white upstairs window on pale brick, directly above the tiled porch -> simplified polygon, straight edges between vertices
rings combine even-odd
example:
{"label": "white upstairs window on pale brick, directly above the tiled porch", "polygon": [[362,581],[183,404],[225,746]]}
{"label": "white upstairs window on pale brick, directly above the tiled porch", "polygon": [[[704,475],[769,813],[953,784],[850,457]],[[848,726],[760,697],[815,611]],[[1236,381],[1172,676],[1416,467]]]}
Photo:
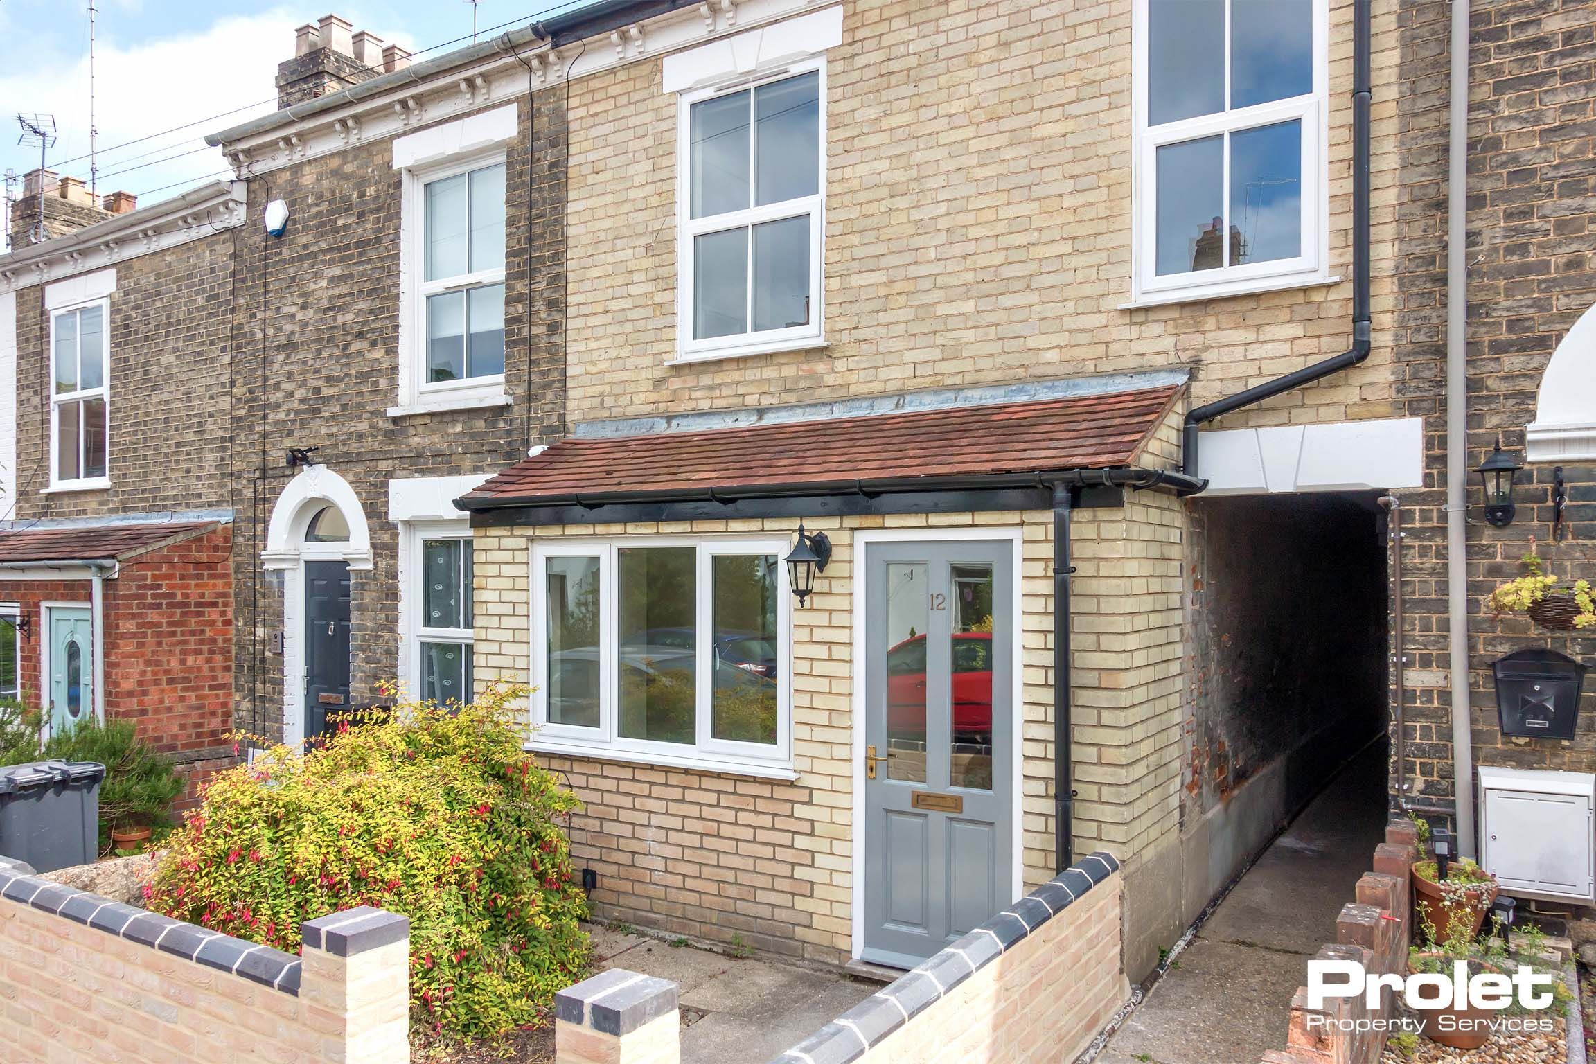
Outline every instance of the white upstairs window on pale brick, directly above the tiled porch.
{"label": "white upstairs window on pale brick, directly above the tiled porch", "polygon": [[820,346],[825,59],[678,107],[678,357]]}

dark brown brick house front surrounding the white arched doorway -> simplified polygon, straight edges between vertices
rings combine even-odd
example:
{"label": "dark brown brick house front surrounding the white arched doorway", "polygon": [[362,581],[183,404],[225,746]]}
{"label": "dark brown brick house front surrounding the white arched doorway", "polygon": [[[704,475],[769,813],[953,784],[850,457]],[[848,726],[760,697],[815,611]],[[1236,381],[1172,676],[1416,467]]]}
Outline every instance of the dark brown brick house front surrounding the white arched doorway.
{"label": "dark brown brick house front surrounding the white arched doorway", "polygon": [[263,238],[247,239],[238,257],[235,660],[239,723],[257,734],[278,734],[282,718],[282,657],[268,649],[282,627],[281,584],[262,573],[260,552],[271,507],[295,472],[284,466],[287,447],[319,447],[316,461],[350,482],[370,528],[373,568],[351,573],[353,700],[361,705],[378,700],[378,681],[399,675],[399,531],[388,520],[389,479],[487,479],[562,432],[562,97],[546,91],[531,108],[527,97],[514,105],[519,132],[508,145],[506,174],[509,407],[386,415],[399,402],[401,357],[401,172],[389,139],[251,182],[249,217],[275,198],[287,201],[292,215],[281,239],[265,247]]}

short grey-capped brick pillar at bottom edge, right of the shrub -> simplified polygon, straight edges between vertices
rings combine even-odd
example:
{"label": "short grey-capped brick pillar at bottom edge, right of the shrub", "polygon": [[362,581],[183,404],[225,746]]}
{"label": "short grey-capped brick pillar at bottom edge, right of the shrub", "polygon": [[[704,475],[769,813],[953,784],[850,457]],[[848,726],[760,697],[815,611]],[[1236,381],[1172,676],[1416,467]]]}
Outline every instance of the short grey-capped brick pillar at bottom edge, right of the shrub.
{"label": "short grey-capped brick pillar at bottom edge, right of the shrub", "polygon": [[677,984],[610,968],[554,995],[555,1064],[680,1064]]}

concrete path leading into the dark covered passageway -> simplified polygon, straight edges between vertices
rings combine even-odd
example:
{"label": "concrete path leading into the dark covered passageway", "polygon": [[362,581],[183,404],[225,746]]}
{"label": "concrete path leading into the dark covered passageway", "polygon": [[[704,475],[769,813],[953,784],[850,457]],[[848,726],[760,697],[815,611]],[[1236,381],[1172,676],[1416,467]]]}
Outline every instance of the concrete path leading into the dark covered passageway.
{"label": "concrete path leading into the dark covered passageway", "polygon": [[1358,756],[1248,869],[1098,1064],[1254,1064],[1285,1048],[1304,962],[1385,830],[1385,747]]}

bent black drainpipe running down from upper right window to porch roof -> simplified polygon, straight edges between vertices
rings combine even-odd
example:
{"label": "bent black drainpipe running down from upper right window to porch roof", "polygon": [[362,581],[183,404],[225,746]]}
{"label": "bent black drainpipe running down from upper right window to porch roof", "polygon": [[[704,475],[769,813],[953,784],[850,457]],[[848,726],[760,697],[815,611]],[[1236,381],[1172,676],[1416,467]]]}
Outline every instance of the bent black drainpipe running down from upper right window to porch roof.
{"label": "bent black drainpipe running down from upper right window to porch roof", "polygon": [[[1323,362],[1197,407],[1186,415],[1181,472],[1197,475],[1197,428],[1232,410],[1312,384],[1369,357],[1369,0],[1352,5],[1352,348]],[[1203,485],[1207,487],[1207,485]],[[1200,491],[1202,488],[1197,488]],[[1195,495],[1187,491],[1186,495]]]}

